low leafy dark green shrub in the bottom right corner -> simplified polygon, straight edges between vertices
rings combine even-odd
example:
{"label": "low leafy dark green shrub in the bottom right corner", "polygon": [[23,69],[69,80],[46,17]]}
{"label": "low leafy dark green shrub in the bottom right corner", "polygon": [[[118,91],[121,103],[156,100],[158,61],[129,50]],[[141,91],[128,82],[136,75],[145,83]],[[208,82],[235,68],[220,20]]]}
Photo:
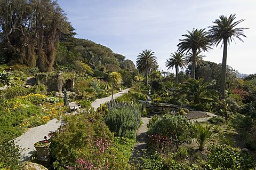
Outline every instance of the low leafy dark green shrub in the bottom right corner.
{"label": "low leafy dark green shrub in the bottom right corner", "polygon": [[250,169],[254,168],[254,161],[247,152],[228,145],[213,145],[207,155],[207,164],[218,169]]}

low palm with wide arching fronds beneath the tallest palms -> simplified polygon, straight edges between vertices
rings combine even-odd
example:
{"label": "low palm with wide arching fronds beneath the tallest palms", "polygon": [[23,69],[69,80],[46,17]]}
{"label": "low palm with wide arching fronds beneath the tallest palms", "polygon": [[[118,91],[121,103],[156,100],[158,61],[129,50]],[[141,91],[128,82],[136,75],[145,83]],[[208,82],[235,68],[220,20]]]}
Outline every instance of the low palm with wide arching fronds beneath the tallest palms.
{"label": "low palm with wide arching fronds beneath the tallest palms", "polygon": [[193,101],[195,104],[216,99],[218,94],[217,91],[209,88],[213,83],[203,82],[203,78],[200,78],[199,80],[189,78],[187,82],[182,84],[179,93],[186,94],[187,99]]}

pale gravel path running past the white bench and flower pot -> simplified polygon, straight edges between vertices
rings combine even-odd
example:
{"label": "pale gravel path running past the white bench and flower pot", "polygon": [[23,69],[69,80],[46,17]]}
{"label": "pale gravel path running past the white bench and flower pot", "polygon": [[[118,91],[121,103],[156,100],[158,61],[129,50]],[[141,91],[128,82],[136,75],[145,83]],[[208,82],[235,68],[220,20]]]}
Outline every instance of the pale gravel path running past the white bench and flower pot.
{"label": "pale gravel path running past the white bench and flower pot", "polygon": [[[113,95],[113,98],[117,98],[118,96],[123,95],[124,93],[127,93],[130,89],[127,88],[126,90],[116,93]],[[101,103],[105,103],[111,100],[111,96],[108,96],[107,98],[97,99],[94,102],[92,102],[92,107],[94,109],[97,109]],[[15,139],[15,142],[17,142],[17,145],[20,146],[21,150],[21,161],[28,160],[31,155],[33,155],[34,149],[34,143],[44,140],[44,136],[47,136],[47,134],[50,131],[56,131],[60,125],[61,121],[57,119],[50,120],[47,124],[33,127],[28,129],[27,132],[23,133],[21,136],[17,137]]]}

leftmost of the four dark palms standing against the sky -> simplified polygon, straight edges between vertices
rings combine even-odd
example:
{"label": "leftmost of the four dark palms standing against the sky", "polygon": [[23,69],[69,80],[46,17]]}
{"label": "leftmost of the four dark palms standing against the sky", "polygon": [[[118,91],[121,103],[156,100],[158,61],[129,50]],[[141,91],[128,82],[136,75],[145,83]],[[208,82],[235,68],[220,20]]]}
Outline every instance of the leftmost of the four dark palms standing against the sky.
{"label": "leftmost of the four dark palms standing against the sky", "polygon": [[152,50],[142,50],[137,56],[136,66],[143,72],[145,71],[145,84],[148,85],[148,74],[150,71],[154,70],[157,66],[155,52]]}

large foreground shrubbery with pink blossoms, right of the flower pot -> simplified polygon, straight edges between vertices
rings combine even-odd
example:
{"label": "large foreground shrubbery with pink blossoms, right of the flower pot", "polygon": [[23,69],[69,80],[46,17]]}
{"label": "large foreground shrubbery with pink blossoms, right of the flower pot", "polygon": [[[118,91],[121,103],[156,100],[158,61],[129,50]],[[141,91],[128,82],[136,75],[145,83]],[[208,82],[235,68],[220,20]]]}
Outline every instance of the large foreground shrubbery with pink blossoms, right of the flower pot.
{"label": "large foreground shrubbery with pink blossoms, right of the flower pot", "polygon": [[67,124],[51,139],[50,152],[55,169],[67,166],[75,169],[84,163],[95,169],[127,169],[128,152],[134,141],[114,139],[101,118],[93,109],[65,117]]}

